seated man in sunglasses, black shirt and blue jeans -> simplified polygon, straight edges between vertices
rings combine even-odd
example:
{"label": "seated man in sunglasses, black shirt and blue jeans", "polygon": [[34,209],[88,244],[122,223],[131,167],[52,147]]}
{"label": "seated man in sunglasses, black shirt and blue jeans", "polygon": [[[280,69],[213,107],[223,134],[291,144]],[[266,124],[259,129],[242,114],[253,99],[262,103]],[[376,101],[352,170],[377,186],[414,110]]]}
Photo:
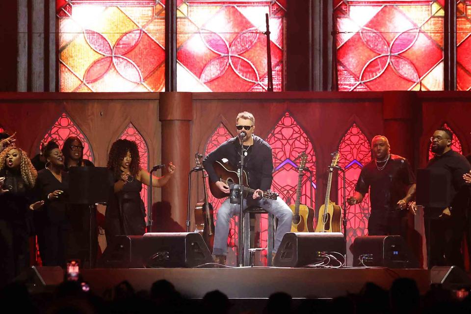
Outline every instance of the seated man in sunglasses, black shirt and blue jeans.
{"label": "seated man in sunglasses, black shirt and blue jeans", "polygon": [[[273,157],[270,145],[259,136],[254,135],[255,118],[250,112],[241,112],[236,118],[236,128],[245,131],[243,138],[244,167],[248,173],[248,184],[255,189],[253,195],[244,199],[244,208],[260,206],[278,218],[278,228],[275,235],[273,253],[278,250],[283,236],[291,230],[292,211],[280,198],[276,200],[261,198],[262,191],[270,189],[273,180]],[[216,174],[213,163],[222,158],[237,166],[240,162],[239,137],[231,138],[211,152],[204,160],[203,165],[208,172],[209,179],[224,193],[229,193],[229,186],[221,182]],[[227,255],[227,236],[231,217],[238,213],[239,205],[231,204],[227,199],[217,211],[216,228],[214,234],[213,255],[215,262],[224,264]]]}

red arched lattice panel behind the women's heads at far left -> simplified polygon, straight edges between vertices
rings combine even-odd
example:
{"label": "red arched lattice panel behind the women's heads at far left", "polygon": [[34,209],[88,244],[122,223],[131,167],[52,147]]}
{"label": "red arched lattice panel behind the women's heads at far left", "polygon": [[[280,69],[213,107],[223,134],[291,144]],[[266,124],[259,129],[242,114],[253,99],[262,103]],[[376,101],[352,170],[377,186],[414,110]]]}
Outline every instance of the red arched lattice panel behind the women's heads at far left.
{"label": "red arched lattice panel behind the women's heads at far left", "polygon": [[[43,136],[42,142],[47,143],[50,140],[54,139],[59,144],[59,147],[62,148],[64,141],[69,136],[77,136],[83,144],[83,158],[88,159],[91,162],[94,162],[93,152],[90,146],[90,142],[83,132],[78,128],[74,121],[69,117],[67,113],[62,113],[57,119],[57,121],[52,125],[51,130],[49,130],[46,135]],[[38,151],[39,151],[38,147]]]}

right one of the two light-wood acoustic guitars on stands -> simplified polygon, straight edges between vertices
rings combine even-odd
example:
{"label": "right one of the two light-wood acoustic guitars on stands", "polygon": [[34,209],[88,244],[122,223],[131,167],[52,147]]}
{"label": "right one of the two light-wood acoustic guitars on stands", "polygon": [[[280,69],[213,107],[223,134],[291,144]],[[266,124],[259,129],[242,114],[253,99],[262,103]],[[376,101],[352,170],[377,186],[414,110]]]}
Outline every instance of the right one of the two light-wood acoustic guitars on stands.
{"label": "right one of the two light-wood acoustic guitars on stands", "polygon": [[341,232],[340,220],[342,218],[342,210],[340,206],[330,201],[330,188],[332,186],[332,172],[339,162],[339,152],[332,154],[334,158],[329,167],[329,179],[327,180],[327,191],[325,193],[325,202],[319,209],[319,218],[315,232]]}

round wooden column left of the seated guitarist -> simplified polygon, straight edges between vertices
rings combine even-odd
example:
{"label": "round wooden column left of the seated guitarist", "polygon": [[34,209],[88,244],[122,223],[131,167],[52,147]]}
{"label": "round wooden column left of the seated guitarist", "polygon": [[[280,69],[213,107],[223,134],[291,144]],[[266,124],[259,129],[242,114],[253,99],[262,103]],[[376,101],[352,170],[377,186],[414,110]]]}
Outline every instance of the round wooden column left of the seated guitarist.
{"label": "round wooden column left of the seated guitarist", "polygon": [[190,123],[193,119],[192,94],[162,92],[159,120],[162,122],[162,163],[177,166],[174,177],[162,187],[162,201],[172,207],[172,218],[186,230],[188,172],[190,170]]}

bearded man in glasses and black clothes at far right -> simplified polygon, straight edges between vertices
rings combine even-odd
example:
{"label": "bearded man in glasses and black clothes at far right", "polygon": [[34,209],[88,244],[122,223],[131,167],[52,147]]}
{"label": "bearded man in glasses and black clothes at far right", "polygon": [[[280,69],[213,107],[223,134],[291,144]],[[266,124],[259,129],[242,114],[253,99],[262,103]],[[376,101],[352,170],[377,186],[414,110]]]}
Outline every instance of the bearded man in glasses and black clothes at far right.
{"label": "bearded man in glasses and black clothes at far right", "polygon": [[[463,155],[451,149],[453,134],[441,128],[430,137],[431,150],[435,156],[430,159],[426,169],[442,169],[450,174],[450,203],[445,209],[426,208],[425,234],[431,248],[429,267],[435,265],[458,265],[463,267],[461,242],[466,224],[466,208],[469,200],[469,185],[464,174],[469,173],[471,165]],[[428,227],[429,225],[429,227]]]}

